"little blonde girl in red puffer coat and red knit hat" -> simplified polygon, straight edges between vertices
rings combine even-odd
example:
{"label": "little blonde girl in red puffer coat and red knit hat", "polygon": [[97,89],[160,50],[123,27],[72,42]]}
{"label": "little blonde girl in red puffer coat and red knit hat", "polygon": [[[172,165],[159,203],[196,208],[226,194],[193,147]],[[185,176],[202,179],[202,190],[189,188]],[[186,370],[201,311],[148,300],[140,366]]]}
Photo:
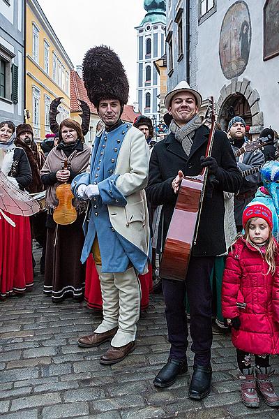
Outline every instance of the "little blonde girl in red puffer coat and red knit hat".
{"label": "little blonde girl in red puffer coat and red knit hat", "polygon": [[269,355],[279,353],[279,246],[272,227],[266,205],[248,205],[243,212],[245,232],[236,237],[223,276],[223,316],[232,325],[241,397],[248,407],[259,406],[258,395],[269,406],[279,406],[269,381]]}

